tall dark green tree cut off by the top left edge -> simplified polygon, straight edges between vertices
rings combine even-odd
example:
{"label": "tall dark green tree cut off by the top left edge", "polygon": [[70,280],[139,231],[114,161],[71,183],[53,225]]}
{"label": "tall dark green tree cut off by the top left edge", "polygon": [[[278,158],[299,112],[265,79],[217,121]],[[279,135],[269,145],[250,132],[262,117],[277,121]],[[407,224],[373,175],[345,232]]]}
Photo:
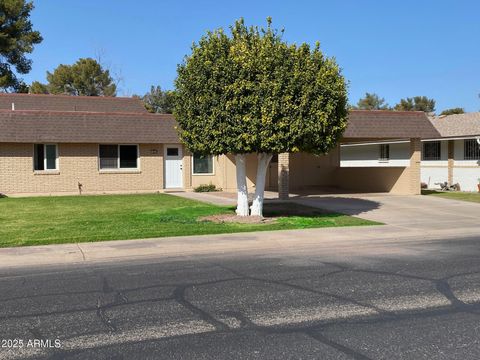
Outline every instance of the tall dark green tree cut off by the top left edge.
{"label": "tall dark green tree cut off by the top left edge", "polygon": [[31,2],[25,0],[0,1],[0,88],[3,91],[24,91],[25,84],[18,78],[32,69],[32,60],[26,54],[42,42],[42,36],[33,30],[30,22]]}

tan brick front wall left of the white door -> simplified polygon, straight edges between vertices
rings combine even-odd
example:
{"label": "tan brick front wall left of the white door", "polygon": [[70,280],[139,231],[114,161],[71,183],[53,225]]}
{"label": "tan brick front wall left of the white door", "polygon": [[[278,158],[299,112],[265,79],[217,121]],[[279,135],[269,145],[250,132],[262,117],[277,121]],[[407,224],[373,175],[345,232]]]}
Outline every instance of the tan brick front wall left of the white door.
{"label": "tan brick front wall left of the white door", "polygon": [[8,194],[153,192],[163,189],[161,144],[139,146],[139,170],[98,170],[97,144],[58,144],[59,169],[33,171],[33,144],[0,143],[0,192]]}

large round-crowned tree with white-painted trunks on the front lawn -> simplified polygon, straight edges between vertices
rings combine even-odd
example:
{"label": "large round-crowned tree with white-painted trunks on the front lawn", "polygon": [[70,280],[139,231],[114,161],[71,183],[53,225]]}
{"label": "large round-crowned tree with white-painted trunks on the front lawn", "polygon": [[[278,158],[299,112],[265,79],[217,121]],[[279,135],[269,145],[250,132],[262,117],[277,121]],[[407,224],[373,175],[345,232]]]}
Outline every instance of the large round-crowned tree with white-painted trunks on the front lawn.
{"label": "large round-crowned tree with white-painted trunks on the front lawn", "polygon": [[179,136],[198,155],[234,154],[237,214],[246,216],[246,154],[258,159],[251,215],[262,215],[265,177],[273,154],[324,154],[347,124],[347,86],[339,66],[317,43],[290,45],[268,26],[243,19],[208,32],[178,66]]}

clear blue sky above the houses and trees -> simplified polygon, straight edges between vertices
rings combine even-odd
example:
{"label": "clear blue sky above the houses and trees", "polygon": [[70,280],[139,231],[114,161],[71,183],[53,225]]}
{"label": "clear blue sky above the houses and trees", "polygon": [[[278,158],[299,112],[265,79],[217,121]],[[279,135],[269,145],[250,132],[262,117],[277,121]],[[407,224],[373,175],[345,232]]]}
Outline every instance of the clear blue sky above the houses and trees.
{"label": "clear blue sky above the houses and trees", "polygon": [[366,91],[393,105],[426,95],[437,113],[480,110],[480,1],[154,1],[37,0],[32,22],[44,41],[25,80],[45,80],[58,64],[101,54],[123,82],[119,95],[173,87],[176,65],[206,30],[244,17],[272,16],[289,42],[319,40],[350,82],[350,102]]}

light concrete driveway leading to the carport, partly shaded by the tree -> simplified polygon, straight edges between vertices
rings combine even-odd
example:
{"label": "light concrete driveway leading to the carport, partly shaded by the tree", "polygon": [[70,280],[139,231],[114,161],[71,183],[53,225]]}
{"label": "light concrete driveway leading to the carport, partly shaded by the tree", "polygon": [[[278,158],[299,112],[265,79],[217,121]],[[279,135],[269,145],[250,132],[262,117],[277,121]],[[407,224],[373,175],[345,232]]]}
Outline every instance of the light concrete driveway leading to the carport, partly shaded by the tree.
{"label": "light concrete driveway leading to the carport, partly shaded by the tree", "polygon": [[465,229],[480,226],[480,204],[433,196],[345,194],[299,196],[293,200],[409,229]]}

